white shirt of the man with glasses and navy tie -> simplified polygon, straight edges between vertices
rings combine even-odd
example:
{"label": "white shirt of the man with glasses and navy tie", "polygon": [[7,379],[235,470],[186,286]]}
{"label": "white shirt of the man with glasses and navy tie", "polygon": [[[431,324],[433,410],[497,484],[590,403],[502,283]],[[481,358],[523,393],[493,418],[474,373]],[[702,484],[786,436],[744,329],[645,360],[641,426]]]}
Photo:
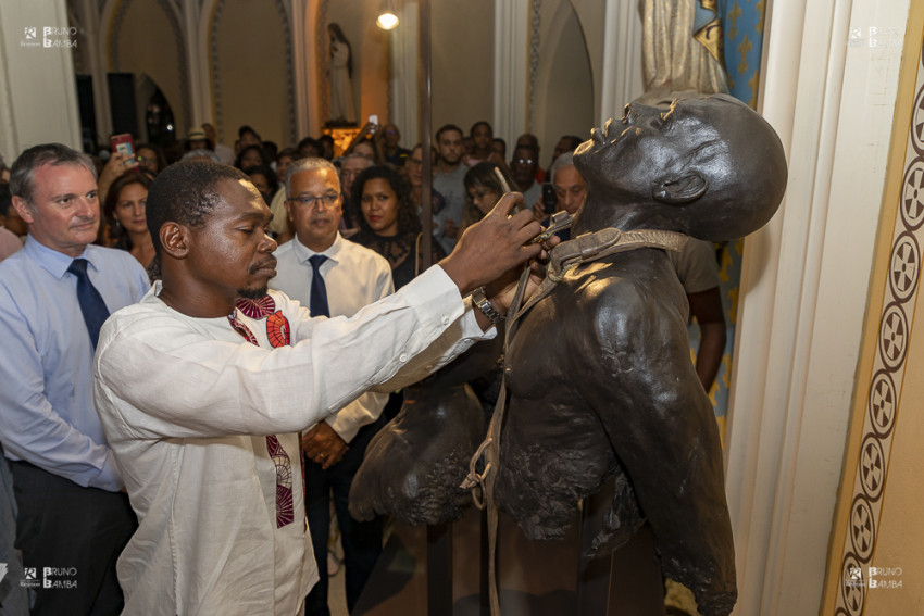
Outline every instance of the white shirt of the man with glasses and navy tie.
{"label": "white shirt of the man with glasses and navy tie", "polygon": [[[314,252],[298,240],[286,242],[276,250],[276,277],[270,288],[283,291],[301,305],[311,304],[311,281],[314,269],[309,259],[323,254],[321,276],[327,289],[327,307],[330,316],[353,316],[360,309],[395,292],[391,266],[388,261],[363,246],[344,239],[340,234],[323,252]],[[388,395],[369,391],[325,422],[344,442],[352,441],[360,428],[372,424],[388,402]]]}

